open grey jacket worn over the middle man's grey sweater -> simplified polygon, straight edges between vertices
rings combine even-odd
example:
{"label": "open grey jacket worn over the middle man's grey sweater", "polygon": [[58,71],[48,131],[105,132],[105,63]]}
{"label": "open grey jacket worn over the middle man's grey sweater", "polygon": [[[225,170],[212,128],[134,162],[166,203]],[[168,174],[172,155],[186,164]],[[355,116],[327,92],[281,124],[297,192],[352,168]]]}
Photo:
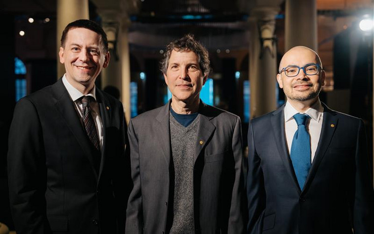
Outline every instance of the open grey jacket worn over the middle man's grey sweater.
{"label": "open grey jacket worn over the middle man's grey sweater", "polygon": [[[134,187],[127,209],[127,234],[170,231],[174,166],[169,103],[129,123]],[[196,233],[241,234],[244,184],[240,118],[202,101],[199,113],[193,181]]]}

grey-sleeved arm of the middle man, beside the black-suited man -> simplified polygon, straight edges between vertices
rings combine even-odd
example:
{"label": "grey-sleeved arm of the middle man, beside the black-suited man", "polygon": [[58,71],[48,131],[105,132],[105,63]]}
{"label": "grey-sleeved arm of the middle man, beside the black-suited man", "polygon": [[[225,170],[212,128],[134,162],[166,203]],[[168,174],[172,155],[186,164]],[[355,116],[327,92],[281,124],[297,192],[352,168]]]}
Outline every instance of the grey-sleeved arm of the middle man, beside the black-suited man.
{"label": "grey-sleeved arm of the middle man, beside the black-suited man", "polygon": [[128,135],[130,143],[131,177],[133,188],[129,197],[126,211],[126,234],[142,234],[143,207],[142,191],[140,186],[139,145],[134,127],[132,125],[132,120],[130,120],[129,123]]}

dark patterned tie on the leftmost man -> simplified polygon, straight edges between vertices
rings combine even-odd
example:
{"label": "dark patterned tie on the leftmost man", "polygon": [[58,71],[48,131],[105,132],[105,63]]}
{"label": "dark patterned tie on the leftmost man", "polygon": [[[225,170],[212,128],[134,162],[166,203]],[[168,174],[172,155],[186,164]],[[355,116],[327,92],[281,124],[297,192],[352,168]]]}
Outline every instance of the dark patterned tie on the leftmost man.
{"label": "dark patterned tie on the leftmost man", "polygon": [[99,137],[97,136],[95,122],[93,121],[93,117],[91,115],[89,96],[84,96],[82,98],[82,107],[83,107],[83,123],[86,129],[86,133],[88,137],[90,138],[91,142],[93,143],[93,146],[95,147],[95,149],[99,150],[99,147],[100,147]]}

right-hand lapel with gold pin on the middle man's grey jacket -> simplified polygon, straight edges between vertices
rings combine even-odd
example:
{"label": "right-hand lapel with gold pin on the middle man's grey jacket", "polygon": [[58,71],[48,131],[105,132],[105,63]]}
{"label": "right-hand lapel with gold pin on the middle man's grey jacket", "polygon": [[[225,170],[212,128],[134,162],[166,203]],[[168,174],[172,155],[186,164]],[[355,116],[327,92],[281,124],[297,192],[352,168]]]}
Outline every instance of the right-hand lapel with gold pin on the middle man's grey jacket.
{"label": "right-hand lapel with gold pin on the middle man's grey jacket", "polygon": [[209,113],[207,112],[208,108],[206,104],[202,100],[200,100],[200,119],[196,135],[197,137],[195,143],[194,163],[196,162],[196,159],[198,158],[201,151],[204,149],[204,146],[207,144],[214,130],[216,129],[216,127],[210,122],[210,119],[212,119],[213,117],[210,117]]}

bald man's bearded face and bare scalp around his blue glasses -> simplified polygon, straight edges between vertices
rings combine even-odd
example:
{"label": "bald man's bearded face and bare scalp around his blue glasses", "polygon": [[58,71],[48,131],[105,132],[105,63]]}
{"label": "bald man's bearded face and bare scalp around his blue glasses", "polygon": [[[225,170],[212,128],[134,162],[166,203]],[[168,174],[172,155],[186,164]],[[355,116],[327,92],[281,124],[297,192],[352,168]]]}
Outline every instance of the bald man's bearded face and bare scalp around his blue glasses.
{"label": "bald man's bearded face and bare scalp around his blue glasses", "polygon": [[[289,50],[281,59],[280,70],[284,67],[295,65],[304,67],[307,64],[318,63],[317,55],[309,48],[298,46]],[[324,85],[325,72],[319,71],[316,75],[306,75],[300,69],[296,77],[287,77],[285,72],[277,75],[279,87],[291,102],[314,102],[319,91]]]}

